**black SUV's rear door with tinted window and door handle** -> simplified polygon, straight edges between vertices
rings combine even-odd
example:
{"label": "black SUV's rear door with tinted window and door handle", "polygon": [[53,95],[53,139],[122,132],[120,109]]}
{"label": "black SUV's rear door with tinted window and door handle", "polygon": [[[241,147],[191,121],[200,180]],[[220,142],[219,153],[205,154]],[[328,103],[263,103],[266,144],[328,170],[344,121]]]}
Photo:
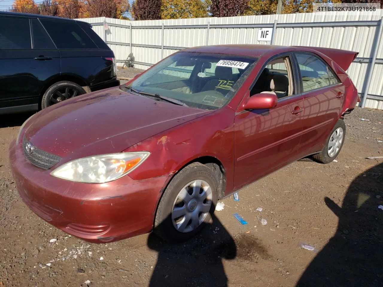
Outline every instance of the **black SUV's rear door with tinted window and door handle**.
{"label": "black SUV's rear door with tinted window and door handle", "polygon": [[35,21],[0,16],[0,113],[37,110],[44,82],[53,70],[60,72],[60,54],[54,46],[34,49],[35,44],[48,47],[50,41],[52,45],[49,37],[39,34],[41,29]]}

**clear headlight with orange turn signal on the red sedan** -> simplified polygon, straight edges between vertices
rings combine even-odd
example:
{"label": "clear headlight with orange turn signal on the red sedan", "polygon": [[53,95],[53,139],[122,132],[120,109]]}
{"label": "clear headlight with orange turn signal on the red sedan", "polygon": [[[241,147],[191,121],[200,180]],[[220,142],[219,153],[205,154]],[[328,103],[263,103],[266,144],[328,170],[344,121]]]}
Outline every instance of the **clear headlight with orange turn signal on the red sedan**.
{"label": "clear headlight with orange turn signal on the red sedan", "polygon": [[82,183],[107,183],[133,171],[149,155],[150,152],[121,152],[84,157],[64,163],[51,174]]}

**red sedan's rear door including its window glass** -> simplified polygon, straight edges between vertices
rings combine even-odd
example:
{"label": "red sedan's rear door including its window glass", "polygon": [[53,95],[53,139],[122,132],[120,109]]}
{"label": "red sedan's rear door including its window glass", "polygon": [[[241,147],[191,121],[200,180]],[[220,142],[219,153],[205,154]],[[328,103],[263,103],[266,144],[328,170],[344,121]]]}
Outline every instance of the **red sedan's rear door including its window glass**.
{"label": "red sedan's rear door including its window glass", "polygon": [[301,142],[302,156],[321,150],[339,119],[344,103],[344,85],[318,55],[296,52],[304,101]]}

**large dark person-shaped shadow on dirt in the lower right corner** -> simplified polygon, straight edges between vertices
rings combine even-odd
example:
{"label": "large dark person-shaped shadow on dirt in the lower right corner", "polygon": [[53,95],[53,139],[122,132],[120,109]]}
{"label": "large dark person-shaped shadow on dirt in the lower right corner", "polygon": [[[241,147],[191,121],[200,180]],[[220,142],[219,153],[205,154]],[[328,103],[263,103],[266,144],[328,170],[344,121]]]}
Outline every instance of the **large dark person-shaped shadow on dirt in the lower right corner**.
{"label": "large dark person-shaped shadow on dirt in the lower right corner", "polygon": [[383,286],[383,163],[352,181],[342,207],[325,202],[338,229],[296,286]]}

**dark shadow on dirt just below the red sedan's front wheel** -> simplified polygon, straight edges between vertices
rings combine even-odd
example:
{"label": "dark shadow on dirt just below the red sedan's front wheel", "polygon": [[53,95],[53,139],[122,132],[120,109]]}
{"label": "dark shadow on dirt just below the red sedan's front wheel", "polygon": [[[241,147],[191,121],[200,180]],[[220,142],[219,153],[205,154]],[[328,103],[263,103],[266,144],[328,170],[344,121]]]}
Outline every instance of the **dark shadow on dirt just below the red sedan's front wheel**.
{"label": "dark shadow on dirt just below the red sedan's front wheel", "polygon": [[158,252],[149,287],[228,285],[222,259],[234,259],[237,248],[217,217],[212,218],[201,235],[184,243],[169,244],[149,235],[148,247]]}

